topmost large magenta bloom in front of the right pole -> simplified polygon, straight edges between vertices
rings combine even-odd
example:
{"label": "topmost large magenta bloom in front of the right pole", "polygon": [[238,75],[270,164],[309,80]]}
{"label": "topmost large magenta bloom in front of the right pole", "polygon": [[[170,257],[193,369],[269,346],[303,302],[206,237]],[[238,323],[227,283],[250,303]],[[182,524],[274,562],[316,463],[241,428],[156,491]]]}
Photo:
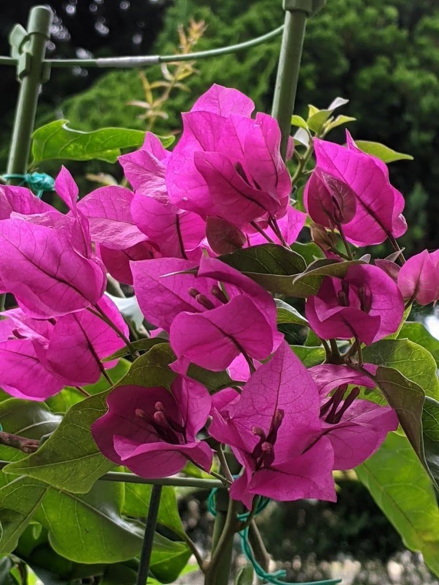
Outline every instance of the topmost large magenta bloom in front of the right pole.
{"label": "topmost large magenta bloom in front of the right pole", "polygon": [[214,85],[183,114],[183,135],[166,170],[170,200],[179,208],[238,227],[286,213],[291,181],[279,125],[262,113],[249,118],[251,107],[245,95]]}

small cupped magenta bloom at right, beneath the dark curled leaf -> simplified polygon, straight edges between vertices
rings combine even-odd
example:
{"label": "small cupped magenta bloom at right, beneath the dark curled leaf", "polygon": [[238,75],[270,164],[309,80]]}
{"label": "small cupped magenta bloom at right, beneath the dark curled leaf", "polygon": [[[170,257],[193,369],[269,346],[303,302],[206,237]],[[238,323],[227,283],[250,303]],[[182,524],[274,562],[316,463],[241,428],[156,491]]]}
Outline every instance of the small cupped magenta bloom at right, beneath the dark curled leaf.
{"label": "small cupped magenta bloom at right, beneath the dark curled leaf", "polygon": [[376,266],[350,266],[344,278],[325,277],[308,297],[306,318],[323,339],[358,339],[369,345],[395,333],[404,301],[395,282]]}

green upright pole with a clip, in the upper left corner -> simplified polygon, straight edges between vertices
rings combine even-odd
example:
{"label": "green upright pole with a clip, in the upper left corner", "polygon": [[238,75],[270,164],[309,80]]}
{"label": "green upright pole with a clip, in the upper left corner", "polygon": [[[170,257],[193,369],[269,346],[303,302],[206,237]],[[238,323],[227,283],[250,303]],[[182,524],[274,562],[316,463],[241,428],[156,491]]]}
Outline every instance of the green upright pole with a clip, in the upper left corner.
{"label": "green upright pole with a clip, in the upper left corner", "polygon": [[9,151],[8,174],[24,174],[28,168],[30,140],[52,16],[52,11],[46,6],[34,6],[29,13],[27,36],[19,48],[21,55],[17,73],[21,84]]}

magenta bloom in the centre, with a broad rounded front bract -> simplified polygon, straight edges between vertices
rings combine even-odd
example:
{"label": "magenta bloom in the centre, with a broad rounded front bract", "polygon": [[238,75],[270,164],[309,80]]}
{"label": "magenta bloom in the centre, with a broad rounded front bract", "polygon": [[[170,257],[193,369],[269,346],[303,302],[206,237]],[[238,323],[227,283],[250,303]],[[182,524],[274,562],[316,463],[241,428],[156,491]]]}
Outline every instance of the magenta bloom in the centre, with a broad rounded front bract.
{"label": "magenta bloom in the centre, with a broad rounded front bract", "polygon": [[170,258],[132,262],[131,270],[145,318],[169,331],[179,358],[222,370],[242,351],[268,357],[282,339],[269,293],[217,259],[202,257],[198,270]]}

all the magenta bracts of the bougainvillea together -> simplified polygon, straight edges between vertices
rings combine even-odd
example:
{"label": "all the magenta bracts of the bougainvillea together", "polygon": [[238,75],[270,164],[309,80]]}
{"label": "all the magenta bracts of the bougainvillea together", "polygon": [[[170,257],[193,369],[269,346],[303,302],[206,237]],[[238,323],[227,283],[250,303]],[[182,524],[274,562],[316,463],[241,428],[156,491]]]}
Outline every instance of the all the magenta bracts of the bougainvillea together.
{"label": "all the magenta bracts of the bougainvillea together", "polygon": [[[358,386],[375,386],[371,364],[307,370],[277,331],[271,295],[218,259],[215,232],[231,230],[242,247],[266,243],[264,233],[290,245],[306,219],[290,205],[279,126],[263,113],[252,119],[253,109],[241,92],[212,86],[183,114],[172,152],[148,133],[119,158],[133,190],[102,187],[77,202],[62,168],[56,191],[67,215],[24,188],[0,189],[0,289],[19,305],[0,321],[0,386],[44,400],[113,365],[101,360],[125,343],[111,324],[128,331],[103,296],[108,271],[133,284],[145,318],[169,334],[177,376],[171,391],[109,394],[108,413],[92,427],[104,455],[144,477],[177,473],[187,460],[209,471],[212,449],[199,438],[207,429],[242,464],[231,495],[248,507],[254,494],[335,500],[332,470],[365,460],[397,418],[358,398]],[[403,197],[385,164],[350,135],[347,147],[315,139],[314,148],[304,202],[315,223],[359,246],[405,232]],[[308,322],[323,339],[369,345],[397,330],[404,299],[439,298],[438,263],[438,252],[424,251],[400,269],[390,260],[354,264],[308,297]],[[241,392],[211,396],[187,376],[190,363],[228,369]]]}

